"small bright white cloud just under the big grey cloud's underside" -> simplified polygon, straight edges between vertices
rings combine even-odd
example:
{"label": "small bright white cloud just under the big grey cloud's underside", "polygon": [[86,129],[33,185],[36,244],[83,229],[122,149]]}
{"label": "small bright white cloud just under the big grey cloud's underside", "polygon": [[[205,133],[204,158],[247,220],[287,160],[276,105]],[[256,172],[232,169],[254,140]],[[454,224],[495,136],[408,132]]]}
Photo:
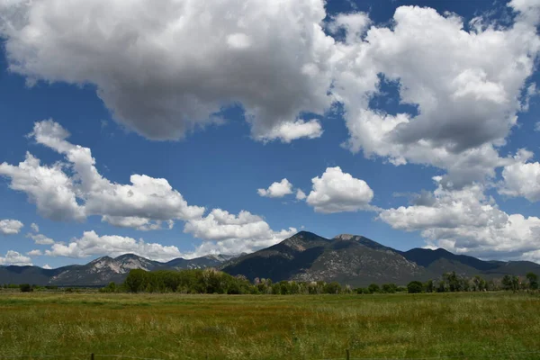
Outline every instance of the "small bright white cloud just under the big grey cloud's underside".
{"label": "small bright white cloud just under the big grey cloud's underside", "polygon": [[287,121],[275,126],[269,132],[258,136],[257,139],[263,141],[281,139],[284,143],[290,143],[295,139],[317,139],[322,136],[323,132],[320,122],[315,119],[310,121]]}

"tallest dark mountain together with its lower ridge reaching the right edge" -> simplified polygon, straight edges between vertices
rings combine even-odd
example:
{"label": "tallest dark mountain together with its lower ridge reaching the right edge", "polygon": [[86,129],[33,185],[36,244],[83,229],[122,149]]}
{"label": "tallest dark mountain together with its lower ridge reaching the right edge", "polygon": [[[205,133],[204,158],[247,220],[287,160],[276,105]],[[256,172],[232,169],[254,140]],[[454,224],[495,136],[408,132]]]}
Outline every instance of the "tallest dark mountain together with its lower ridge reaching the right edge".
{"label": "tallest dark mountain together with its lower ridge reaching the right edge", "polygon": [[437,279],[455,271],[459,275],[540,275],[540,265],[525,261],[483,261],[476,257],[455,255],[445,249],[413,248],[399,251],[370,238],[338,235],[321,238],[302,231],[274,247],[237,257],[222,266],[231,275],[248,279],[270,278],[273,281],[337,281],[351,286]]}

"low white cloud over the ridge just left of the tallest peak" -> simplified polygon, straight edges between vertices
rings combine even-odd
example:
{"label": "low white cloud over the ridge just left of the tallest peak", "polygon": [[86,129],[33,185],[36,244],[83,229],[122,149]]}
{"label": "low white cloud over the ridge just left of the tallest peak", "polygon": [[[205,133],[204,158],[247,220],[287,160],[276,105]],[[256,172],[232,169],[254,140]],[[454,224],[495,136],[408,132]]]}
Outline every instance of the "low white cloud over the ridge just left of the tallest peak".
{"label": "low white cloud over the ridge just left of the tallest peak", "polygon": [[234,215],[214,209],[202,219],[187,221],[184,232],[203,240],[202,245],[191,254],[191,257],[195,257],[208,253],[253,252],[291,237],[297,229],[274,231],[260,216],[248,211],[240,211],[238,215]]}

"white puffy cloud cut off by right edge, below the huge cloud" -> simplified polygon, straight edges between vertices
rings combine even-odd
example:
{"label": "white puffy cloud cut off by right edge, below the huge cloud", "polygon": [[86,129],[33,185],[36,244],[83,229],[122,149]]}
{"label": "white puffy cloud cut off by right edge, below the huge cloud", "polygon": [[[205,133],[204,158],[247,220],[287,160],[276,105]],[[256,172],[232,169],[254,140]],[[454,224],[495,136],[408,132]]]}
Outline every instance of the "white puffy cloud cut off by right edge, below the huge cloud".
{"label": "white puffy cloud cut off by right edge, below the huge cloud", "polygon": [[533,157],[530,151],[521,149],[515,163],[504,166],[499,193],[507,196],[523,196],[529,202],[540,201],[540,163],[527,162]]}

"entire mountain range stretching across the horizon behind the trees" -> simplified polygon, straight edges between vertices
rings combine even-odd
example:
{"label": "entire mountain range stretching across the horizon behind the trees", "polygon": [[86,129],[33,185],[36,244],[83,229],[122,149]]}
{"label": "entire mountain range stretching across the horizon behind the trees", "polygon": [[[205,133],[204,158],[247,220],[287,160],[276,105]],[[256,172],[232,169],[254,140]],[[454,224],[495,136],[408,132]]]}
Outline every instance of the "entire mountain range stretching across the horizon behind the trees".
{"label": "entire mountain range stretching across the horizon behind the trees", "polygon": [[336,281],[351,286],[367,284],[407,284],[412,280],[437,279],[446,272],[459,275],[540,275],[540,265],[528,261],[484,261],[455,255],[445,249],[413,248],[399,251],[369,238],[338,235],[322,238],[301,231],[272,247],[239,256],[176,258],[166,263],[133,254],[100,257],[86,265],[43,269],[38,266],[0,266],[0,284],[56,284],[64,286],[121,283],[131,269],[219,268],[230,275],[296,281]]}

